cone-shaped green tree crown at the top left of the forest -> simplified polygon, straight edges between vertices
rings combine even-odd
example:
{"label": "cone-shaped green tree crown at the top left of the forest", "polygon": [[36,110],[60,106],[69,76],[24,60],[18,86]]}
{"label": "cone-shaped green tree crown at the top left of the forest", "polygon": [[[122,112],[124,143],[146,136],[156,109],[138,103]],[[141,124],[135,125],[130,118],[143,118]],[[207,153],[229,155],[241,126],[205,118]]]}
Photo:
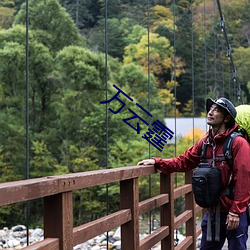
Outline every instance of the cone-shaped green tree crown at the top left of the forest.
{"label": "cone-shaped green tree crown at the top left of the forest", "polygon": [[[58,0],[29,1],[29,20],[36,39],[53,52],[69,45],[84,45],[79,30]],[[15,17],[16,24],[26,24],[25,3]]]}

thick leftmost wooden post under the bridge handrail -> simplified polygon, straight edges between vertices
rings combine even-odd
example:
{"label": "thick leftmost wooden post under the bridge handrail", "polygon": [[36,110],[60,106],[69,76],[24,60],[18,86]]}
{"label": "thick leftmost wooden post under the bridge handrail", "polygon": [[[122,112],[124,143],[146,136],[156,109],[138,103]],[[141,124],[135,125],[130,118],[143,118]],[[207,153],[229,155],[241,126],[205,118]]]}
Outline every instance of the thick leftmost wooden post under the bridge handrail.
{"label": "thick leftmost wooden post under the bridge handrail", "polygon": [[60,250],[73,249],[72,192],[44,198],[44,238],[59,238]]}

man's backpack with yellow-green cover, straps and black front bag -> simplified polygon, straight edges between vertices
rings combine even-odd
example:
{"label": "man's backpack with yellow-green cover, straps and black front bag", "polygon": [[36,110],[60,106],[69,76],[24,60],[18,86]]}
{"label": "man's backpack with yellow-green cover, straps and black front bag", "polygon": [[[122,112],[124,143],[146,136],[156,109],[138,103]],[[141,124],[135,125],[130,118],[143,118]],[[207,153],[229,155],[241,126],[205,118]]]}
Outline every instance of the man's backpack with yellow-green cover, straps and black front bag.
{"label": "man's backpack with yellow-green cover, straps and black front bag", "polygon": [[[250,143],[250,105],[240,105],[236,107],[237,116],[236,123],[239,125],[239,132],[231,133],[223,145],[223,158],[214,160],[226,160],[231,171],[233,169],[232,143],[237,136],[244,137]],[[226,190],[221,189],[221,173],[220,169],[215,168],[212,164],[205,163],[207,145],[203,143],[201,162],[194,171],[192,177],[193,193],[196,203],[204,208],[208,208],[208,223],[207,223],[207,241],[212,241],[212,226],[211,226],[211,207],[215,207],[215,241],[220,241],[220,205],[219,199],[222,194],[228,195],[230,199],[234,199],[233,182],[230,180]],[[250,224],[250,203],[248,205],[248,222]]]}

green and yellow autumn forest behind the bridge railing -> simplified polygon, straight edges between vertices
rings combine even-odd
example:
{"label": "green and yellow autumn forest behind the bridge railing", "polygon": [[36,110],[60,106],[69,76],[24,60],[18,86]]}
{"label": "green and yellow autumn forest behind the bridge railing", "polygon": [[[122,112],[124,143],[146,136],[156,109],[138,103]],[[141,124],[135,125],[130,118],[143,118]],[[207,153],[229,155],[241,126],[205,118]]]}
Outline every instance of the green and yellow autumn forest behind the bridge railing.
{"label": "green and yellow autumn forest behind the bridge railing", "polygon": [[[202,132],[159,151],[142,137],[145,110],[163,122],[204,117],[207,97],[249,103],[250,2],[220,2],[230,48],[215,0],[2,0],[1,183],[174,157]],[[122,110],[122,102],[105,103],[118,89]],[[123,122],[131,111],[140,121]],[[140,180],[140,199],[148,182]],[[157,179],[150,182],[157,192]],[[118,189],[108,187],[110,211],[119,207]],[[105,186],[76,191],[75,224],[105,213],[106,194]],[[41,202],[30,204],[34,226],[42,226]],[[24,210],[0,207],[0,227],[24,221]]]}

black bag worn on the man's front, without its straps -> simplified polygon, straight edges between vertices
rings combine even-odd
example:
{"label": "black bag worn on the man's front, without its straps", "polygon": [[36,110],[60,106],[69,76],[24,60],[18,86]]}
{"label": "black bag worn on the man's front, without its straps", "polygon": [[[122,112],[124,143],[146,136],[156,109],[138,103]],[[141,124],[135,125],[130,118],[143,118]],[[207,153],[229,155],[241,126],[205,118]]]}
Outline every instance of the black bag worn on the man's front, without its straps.
{"label": "black bag worn on the man's front, without its straps", "polygon": [[195,202],[204,208],[214,207],[221,195],[221,170],[210,163],[200,163],[192,176]]}

